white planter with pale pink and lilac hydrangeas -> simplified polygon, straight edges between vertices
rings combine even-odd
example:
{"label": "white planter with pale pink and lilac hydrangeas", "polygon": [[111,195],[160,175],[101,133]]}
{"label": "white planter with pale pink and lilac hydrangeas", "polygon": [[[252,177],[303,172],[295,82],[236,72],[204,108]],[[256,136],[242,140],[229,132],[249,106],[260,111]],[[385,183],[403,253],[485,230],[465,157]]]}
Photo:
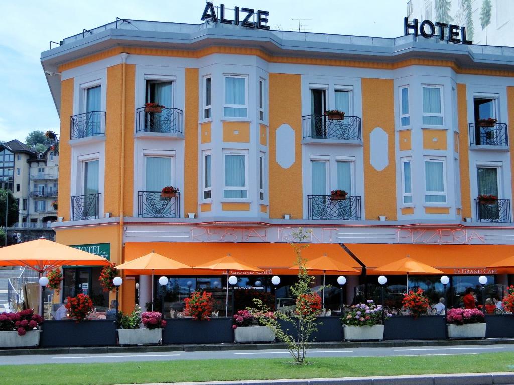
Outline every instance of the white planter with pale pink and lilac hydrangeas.
{"label": "white planter with pale pink and lilac hydrangeas", "polygon": [[347,341],[383,340],[385,317],[381,305],[376,305],[372,299],[351,307],[343,318],[343,335]]}

